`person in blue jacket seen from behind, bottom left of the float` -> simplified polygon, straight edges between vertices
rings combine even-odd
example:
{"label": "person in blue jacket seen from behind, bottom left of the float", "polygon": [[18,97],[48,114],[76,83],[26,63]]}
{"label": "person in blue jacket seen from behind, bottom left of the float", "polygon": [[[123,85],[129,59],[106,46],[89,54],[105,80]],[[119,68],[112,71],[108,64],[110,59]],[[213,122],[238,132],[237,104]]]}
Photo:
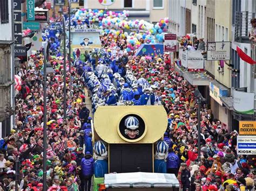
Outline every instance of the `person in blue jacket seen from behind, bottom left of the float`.
{"label": "person in blue jacket seen from behind, bottom left of the float", "polygon": [[94,174],[94,159],[91,153],[88,151],[85,153],[84,158],[81,161],[81,188],[84,191],[91,190],[91,179]]}

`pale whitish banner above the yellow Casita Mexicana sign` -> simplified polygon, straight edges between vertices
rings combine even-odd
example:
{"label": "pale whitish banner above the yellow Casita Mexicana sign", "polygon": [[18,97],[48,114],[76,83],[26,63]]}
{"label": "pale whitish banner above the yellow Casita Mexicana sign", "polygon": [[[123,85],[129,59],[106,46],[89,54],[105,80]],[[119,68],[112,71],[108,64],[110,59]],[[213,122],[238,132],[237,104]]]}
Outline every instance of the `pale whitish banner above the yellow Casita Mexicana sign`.
{"label": "pale whitish banner above the yellow Casita Mexicana sign", "polygon": [[241,114],[254,114],[254,93],[234,89],[234,110]]}

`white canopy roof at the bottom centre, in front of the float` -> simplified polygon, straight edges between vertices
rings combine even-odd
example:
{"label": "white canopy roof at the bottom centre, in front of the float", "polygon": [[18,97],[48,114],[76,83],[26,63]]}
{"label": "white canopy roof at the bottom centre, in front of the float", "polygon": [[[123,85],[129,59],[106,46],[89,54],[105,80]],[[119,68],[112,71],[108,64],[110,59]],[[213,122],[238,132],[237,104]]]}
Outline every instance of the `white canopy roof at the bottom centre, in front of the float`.
{"label": "white canopy roof at the bottom centre, in front of the float", "polygon": [[105,174],[106,188],[179,188],[174,174],[164,173],[117,173]]}

